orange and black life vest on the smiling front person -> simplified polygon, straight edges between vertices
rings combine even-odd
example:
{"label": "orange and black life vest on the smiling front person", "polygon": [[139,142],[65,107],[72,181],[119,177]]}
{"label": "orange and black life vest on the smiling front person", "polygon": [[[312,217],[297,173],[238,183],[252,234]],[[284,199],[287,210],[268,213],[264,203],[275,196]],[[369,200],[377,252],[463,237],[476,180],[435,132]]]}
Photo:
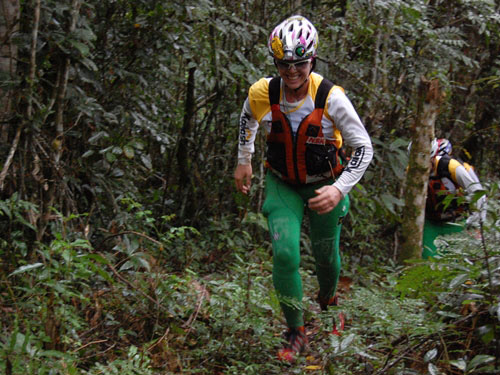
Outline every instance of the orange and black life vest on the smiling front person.
{"label": "orange and black life vest on the smiling front person", "polygon": [[334,141],[327,140],[321,119],[326,99],[333,83],[323,79],[318,87],[314,110],[299,124],[294,136],[286,115],[280,109],[280,77],[269,82],[272,125],[267,136],[266,167],[284,181],[292,184],[308,183],[308,176],[322,177],[314,181],[339,176],[343,166]]}

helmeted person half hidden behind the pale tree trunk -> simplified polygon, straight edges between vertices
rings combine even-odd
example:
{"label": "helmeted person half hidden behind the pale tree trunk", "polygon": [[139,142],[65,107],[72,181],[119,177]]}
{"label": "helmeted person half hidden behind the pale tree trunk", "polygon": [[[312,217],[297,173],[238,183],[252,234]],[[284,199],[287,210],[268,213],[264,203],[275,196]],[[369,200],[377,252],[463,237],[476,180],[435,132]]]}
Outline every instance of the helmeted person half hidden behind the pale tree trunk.
{"label": "helmeted person half hidden behind the pale tree trunk", "polygon": [[425,222],[423,233],[422,258],[427,259],[438,254],[434,240],[439,235],[457,233],[466,227],[478,226],[486,219],[486,196],[476,202],[478,211],[467,220],[462,220],[470,207],[466,201],[453,199],[445,205],[449,194],[472,196],[478,190],[484,190],[474,168],[451,156],[452,145],[445,138],[433,139],[431,143],[431,172],[427,187]]}

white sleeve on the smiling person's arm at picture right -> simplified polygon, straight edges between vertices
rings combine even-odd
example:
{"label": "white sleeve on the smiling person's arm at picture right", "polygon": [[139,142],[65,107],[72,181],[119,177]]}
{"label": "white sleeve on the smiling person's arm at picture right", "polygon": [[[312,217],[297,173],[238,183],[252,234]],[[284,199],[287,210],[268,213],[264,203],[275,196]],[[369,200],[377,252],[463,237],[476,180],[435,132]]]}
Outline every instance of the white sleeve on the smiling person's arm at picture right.
{"label": "white sleeve on the smiling person's arm at picture right", "polygon": [[327,110],[343,141],[353,149],[349,163],[333,184],[345,196],[368,168],[373,157],[372,142],[351,101],[340,88],[330,93]]}

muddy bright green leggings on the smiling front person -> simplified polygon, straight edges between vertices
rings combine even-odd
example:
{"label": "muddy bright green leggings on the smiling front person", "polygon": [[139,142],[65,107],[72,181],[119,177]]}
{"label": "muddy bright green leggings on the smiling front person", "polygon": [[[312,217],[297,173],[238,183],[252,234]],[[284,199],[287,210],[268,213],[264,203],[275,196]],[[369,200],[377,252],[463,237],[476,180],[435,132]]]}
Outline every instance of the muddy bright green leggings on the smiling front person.
{"label": "muddy bright green leggings on the smiling front person", "polygon": [[300,265],[300,229],[304,212],[310,224],[310,238],[319,282],[319,295],[335,294],[340,276],[339,240],[342,218],[349,210],[349,197],[344,197],[331,212],[318,215],[308,209],[307,201],[316,196],[315,189],[325,182],[292,186],[271,172],[266,175],[266,199],[263,213],[268,219],[273,246],[273,283],[281,308],[290,328],[304,325],[302,314],[302,281]]}

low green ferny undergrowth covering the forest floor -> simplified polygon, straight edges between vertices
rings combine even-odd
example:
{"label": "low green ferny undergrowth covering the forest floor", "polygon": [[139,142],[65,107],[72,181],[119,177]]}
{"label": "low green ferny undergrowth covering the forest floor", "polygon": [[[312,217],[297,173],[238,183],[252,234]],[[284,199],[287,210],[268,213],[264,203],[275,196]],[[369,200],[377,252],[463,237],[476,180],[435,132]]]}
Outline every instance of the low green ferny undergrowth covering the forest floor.
{"label": "low green ferny undergrowth covering the forest floor", "polygon": [[[341,306],[326,313],[315,302],[304,237],[310,347],[292,365],[276,357],[284,322],[260,215],[247,214],[239,226],[232,217],[214,219],[195,230],[169,226],[168,216],[157,223],[141,204],[124,199],[128,226],[92,241],[66,230],[73,218],[55,213],[50,244],[30,248],[22,238],[2,244],[0,372],[498,373],[495,189],[488,222],[441,238],[442,258],[401,266],[382,252],[360,257],[344,248]],[[36,209],[15,197],[0,208],[11,219],[11,238]],[[350,226],[345,243],[354,243]],[[346,316],[340,337],[329,334],[338,310]]]}

